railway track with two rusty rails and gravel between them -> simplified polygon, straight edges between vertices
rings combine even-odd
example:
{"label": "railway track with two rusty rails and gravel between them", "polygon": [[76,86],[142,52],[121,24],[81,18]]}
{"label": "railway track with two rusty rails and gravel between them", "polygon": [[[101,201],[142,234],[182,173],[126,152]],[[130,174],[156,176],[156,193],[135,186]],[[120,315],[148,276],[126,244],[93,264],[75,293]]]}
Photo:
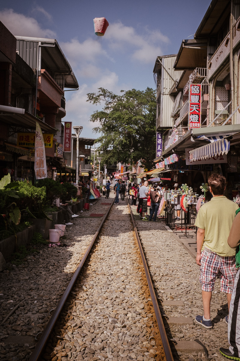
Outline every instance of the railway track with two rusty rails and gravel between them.
{"label": "railway track with two rusty rails and gravel between them", "polygon": [[131,207],[113,202],[29,361],[173,361]]}

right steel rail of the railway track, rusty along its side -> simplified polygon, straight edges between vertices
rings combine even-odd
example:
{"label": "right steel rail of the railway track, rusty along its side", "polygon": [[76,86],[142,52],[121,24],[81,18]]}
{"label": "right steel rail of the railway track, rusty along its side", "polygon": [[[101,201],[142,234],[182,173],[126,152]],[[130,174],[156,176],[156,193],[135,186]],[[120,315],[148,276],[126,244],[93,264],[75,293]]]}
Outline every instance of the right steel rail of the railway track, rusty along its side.
{"label": "right steel rail of the railway track, rusty along its side", "polygon": [[163,319],[159,310],[159,306],[158,306],[158,301],[157,301],[157,297],[155,295],[155,291],[153,288],[153,283],[151,281],[151,277],[150,277],[150,273],[149,273],[149,269],[148,269],[148,265],[145,259],[145,255],[142,249],[142,245],[141,245],[141,241],[139,238],[139,234],[137,231],[137,227],[136,227],[136,223],[134,221],[133,218],[133,214],[132,214],[132,209],[130,207],[128,198],[127,198],[127,203],[128,203],[128,207],[130,210],[130,214],[131,214],[131,219],[132,219],[132,224],[133,224],[133,228],[134,228],[134,234],[135,234],[135,239],[137,241],[137,245],[139,247],[139,251],[140,251],[140,255],[141,255],[141,259],[142,259],[142,264],[144,267],[144,271],[145,271],[145,275],[146,275],[146,279],[147,279],[147,283],[148,283],[148,288],[149,288],[149,292],[150,292],[150,297],[153,303],[153,309],[154,309],[154,313],[156,316],[156,321],[157,321],[157,325],[158,325],[158,330],[162,339],[162,344],[163,344],[163,350],[166,356],[166,361],[174,361],[173,359],[173,355],[172,355],[172,351],[168,342],[168,337],[167,337],[167,333],[163,324]]}

